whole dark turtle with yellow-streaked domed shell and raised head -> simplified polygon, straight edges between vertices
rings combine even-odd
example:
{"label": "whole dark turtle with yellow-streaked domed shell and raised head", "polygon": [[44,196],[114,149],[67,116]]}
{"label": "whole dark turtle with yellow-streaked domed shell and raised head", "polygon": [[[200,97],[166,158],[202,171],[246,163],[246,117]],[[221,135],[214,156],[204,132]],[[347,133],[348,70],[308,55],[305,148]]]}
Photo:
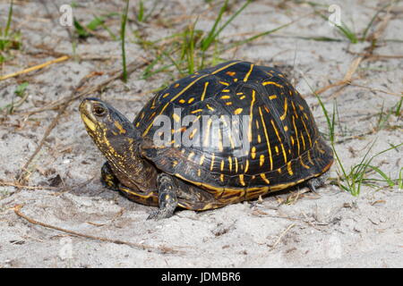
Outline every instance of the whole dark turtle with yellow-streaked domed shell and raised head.
{"label": "whole dark turtle with yellow-streaked domed shell and raised head", "polygon": [[101,181],[126,198],[202,211],[296,185],[321,187],[333,163],[304,98],[279,70],[229,61],[152,97],[134,121],[96,98],[81,119],[107,158]]}

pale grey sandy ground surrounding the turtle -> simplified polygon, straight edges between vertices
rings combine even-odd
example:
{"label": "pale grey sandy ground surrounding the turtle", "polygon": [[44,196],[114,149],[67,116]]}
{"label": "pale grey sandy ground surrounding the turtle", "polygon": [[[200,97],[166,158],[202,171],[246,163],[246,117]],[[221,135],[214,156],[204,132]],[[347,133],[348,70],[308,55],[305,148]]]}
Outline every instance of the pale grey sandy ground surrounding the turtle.
{"label": "pale grey sandy ground surrounding the turtle", "polygon": [[[0,3],[3,24],[8,2]],[[92,20],[93,12],[121,11],[119,1],[83,3],[73,11],[83,22]],[[210,8],[203,1],[199,6],[195,3],[167,1],[166,9],[158,18],[151,17],[143,32],[149,38],[170,35],[184,29],[201,12],[197,27],[207,30],[219,6]],[[342,21],[356,31],[365,29],[373,14],[386,3],[329,2],[339,4]],[[52,22],[49,13],[56,22]],[[224,42],[299,21],[274,36],[260,38],[221,56],[279,66],[312,106],[320,130],[327,132],[322,110],[309,86],[318,90],[343,80],[350,64],[359,56],[354,53],[364,53],[370,43],[351,45],[321,17],[304,17],[309,13],[313,13],[309,4],[255,1],[225,29]],[[382,106],[385,112],[396,106],[403,90],[402,13],[400,2],[392,5],[390,13],[381,13],[382,18],[376,19],[376,25],[370,29],[380,31],[373,55],[382,56],[363,59],[352,75],[354,85],[330,87],[321,94],[330,111],[331,99],[337,98],[336,149],[347,169],[360,163],[375,139],[371,155],[403,141],[401,113],[390,114],[382,129],[376,129]],[[129,16],[133,17],[133,10]],[[162,25],[161,21],[170,21],[172,25]],[[113,31],[119,30],[118,20],[109,25]],[[21,31],[22,48],[12,51],[1,75],[47,62],[57,55],[72,54],[70,38],[58,24],[56,8],[50,1],[47,9],[39,2],[17,1],[13,27]],[[131,33],[135,29],[130,23],[126,46],[129,62],[138,55],[149,56],[148,51],[134,43]],[[81,61],[70,59],[0,81],[0,106],[13,101],[14,90],[21,82],[29,82],[29,96],[24,103],[13,114],[0,115],[0,267],[403,266],[403,190],[382,182],[375,188],[363,186],[358,197],[339,189],[337,184],[327,184],[317,194],[304,192],[296,196],[298,189],[287,190],[257,203],[202,213],[181,210],[167,220],[146,221],[154,207],[130,202],[100,184],[99,170],[104,158],[84,130],[79,100],[67,107],[29,165],[25,187],[10,186],[17,184],[15,175],[60,110],[40,109],[70,97],[73,88],[91,71],[104,72],[90,81],[96,85],[109,77],[108,71],[121,68],[119,42],[107,38],[103,29],[99,33],[105,37],[91,37],[78,44],[76,53]],[[322,36],[342,41],[297,38]],[[94,96],[106,99],[133,118],[152,96],[148,91],[169,81],[164,72],[139,80],[142,71],[131,73],[127,84],[115,80]],[[36,112],[29,114],[30,111]],[[402,147],[392,149],[375,157],[372,164],[397,179],[403,165],[401,152]],[[338,176],[337,169],[333,165],[330,177]],[[374,173],[368,176],[380,179]],[[31,220],[109,241],[73,236],[28,222],[14,213],[16,205],[23,205],[21,213]]]}

